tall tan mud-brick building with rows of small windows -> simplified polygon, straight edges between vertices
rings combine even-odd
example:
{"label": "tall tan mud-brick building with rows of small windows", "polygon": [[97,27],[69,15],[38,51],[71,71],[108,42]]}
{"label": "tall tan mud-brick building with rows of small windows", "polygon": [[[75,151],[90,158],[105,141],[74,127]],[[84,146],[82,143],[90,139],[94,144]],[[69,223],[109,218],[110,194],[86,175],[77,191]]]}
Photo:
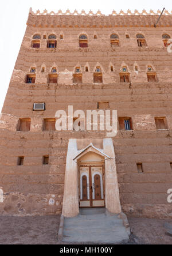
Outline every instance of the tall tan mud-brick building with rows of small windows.
{"label": "tall tan mud-brick building with rows of small windows", "polygon": [[[155,28],[159,14],[30,9],[1,113],[0,214],[172,217],[172,14]],[[117,110],[118,134],[57,131],[68,106]]]}

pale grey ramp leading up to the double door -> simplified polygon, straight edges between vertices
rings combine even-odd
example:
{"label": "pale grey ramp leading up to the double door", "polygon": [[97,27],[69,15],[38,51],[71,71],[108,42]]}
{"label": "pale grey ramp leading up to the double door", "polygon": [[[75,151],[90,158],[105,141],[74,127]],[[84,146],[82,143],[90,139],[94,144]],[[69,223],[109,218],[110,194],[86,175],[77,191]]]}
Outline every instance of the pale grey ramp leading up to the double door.
{"label": "pale grey ramp leading up to the double door", "polygon": [[129,235],[119,214],[105,208],[80,209],[78,216],[64,219],[62,242],[119,244],[127,243]]}

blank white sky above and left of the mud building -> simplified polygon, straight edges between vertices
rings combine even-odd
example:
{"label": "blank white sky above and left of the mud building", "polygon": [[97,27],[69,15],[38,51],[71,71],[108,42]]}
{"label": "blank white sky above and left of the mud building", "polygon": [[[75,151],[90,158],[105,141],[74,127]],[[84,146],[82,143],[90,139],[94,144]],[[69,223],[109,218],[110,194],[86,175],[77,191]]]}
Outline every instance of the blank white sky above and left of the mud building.
{"label": "blank white sky above and left of the mud building", "polygon": [[126,11],[130,9],[132,12],[137,9],[142,11],[150,9],[157,11],[165,7],[171,12],[171,0],[1,0],[1,15],[0,15],[0,112],[5,100],[7,88],[9,86],[11,74],[14,69],[15,61],[21,46],[22,38],[26,29],[26,21],[28,19],[29,8],[32,7],[33,11],[40,9],[41,12],[47,9],[49,12],[57,12],[61,9],[63,12],[69,9],[71,12],[77,9],[79,12],[85,10],[88,12],[90,9],[95,13],[100,9],[103,14],[110,14],[112,10],[119,12],[121,9]]}

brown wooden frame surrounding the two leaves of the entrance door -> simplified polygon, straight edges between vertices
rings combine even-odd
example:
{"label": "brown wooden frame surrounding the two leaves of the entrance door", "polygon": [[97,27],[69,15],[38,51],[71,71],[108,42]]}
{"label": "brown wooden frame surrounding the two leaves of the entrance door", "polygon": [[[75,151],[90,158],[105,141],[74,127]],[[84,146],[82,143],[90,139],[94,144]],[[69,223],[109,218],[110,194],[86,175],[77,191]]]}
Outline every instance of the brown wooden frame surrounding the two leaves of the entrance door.
{"label": "brown wooden frame surrounding the two leaves of the entrance door", "polygon": [[[90,206],[80,206],[80,167],[88,167],[89,168],[89,201]],[[103,196],[104,196],[104,206],[92,206],[92,173],[91,173],[91,167],[102,167],[102,179],[103,179]],[[104,162],[87,162],[87,163],[79,163],[78,164],[78,182],[79,182],[79,208],[105,208],[105,165]],[[96,201],[94,199],[94,201]]]}

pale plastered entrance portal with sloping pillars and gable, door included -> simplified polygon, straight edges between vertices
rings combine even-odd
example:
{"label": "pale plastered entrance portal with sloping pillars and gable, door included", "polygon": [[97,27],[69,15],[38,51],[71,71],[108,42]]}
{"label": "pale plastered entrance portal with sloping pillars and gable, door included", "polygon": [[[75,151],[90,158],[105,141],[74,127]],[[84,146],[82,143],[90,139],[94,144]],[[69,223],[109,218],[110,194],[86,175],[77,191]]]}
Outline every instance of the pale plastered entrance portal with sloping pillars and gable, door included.
{"label": "pale plastered entrance portal with sloping pillars and gable, door included", "polygon": [[96,207],[116,214],[122,212],[112,139],[71,139],[62,215],[75,217],[79,208]]}

